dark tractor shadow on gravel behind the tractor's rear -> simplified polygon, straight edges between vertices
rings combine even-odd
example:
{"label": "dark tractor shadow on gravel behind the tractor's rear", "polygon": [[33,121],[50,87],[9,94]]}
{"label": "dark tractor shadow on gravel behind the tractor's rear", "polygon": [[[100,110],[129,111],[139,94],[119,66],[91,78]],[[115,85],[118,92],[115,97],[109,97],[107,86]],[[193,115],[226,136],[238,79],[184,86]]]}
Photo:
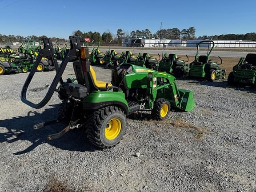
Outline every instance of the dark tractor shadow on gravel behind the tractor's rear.
{"label": "dark tractor shadow on gravel behind the tractor's rear", "polygon": [[17,140],[26,140],[32,143],[28,148],[14,153],[15,155],[30,152],[44,143],[69,151],[92,152],[99,150],[88,141],[82,128],[70,130],[61,138],[52,141],[48,141],[46,139],[47,136],[60,132],[65,128],[64,124],[59,123],[34,130],[33,125],[56,118],[58,105],[51,105],[51,107],[53,108],[46,109],[43,113],[30,111],[27,116],[17,116],[12,119],[0,120],[0,143],[13,143]]}

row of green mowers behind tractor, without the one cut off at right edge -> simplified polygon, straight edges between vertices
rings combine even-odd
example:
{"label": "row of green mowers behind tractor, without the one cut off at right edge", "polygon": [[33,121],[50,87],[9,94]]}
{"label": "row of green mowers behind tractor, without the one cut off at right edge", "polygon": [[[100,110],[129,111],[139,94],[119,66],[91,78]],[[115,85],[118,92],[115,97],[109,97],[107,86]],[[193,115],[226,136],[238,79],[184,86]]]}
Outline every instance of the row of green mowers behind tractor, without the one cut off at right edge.
{"label": "row of green mowers behind tractor, without the one cut off at right edge", "polygon": [[[200,44],[208,44],[207,55],[199,56]],[[130,51],[117,54],[115,50],[108,50],[104,55],[100,53],[98,46],[98,48],[92,49],[90,61],[92,64],[105,64],[105,67],[109,68],[110,64],[118,64],[121,60],[125,60],[126,63],[150,68],[160,72],[167,72],[175,77],[188,76],[191,78],[197,77],[214,81],[216,79],[224,79],[226,72],[224,69],[219,67],[219,65],[222,64],[220,57],[220,64],[210,60],[210,53],[212,52],[213,48],[213,41],[201,41],[197,45],[195,60],[191,64],[187,64],[188,60],[180,60],[176,54],[164,54],[161,60],[152,58],[148,53],[139,53],[138,56],[133,56]]]}

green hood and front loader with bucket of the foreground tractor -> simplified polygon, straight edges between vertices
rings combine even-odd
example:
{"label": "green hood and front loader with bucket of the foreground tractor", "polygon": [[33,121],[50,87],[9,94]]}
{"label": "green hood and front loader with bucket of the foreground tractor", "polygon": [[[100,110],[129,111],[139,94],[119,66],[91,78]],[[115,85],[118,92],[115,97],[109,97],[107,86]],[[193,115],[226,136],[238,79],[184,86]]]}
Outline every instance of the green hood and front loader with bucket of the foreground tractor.
{"label": "green hood and front loader with bucket of the foreground tractor", "polygon": [[149,102],[146,104],[146,108],[152,109],[157,98],[169,100],[174,108],[182,111],[191,111],[196,107],[193,92],[178,89],[174,76],[132,64],[131,66],[132,72],[125,75],[124,82],[128,89],[142,88],[147,90]]}

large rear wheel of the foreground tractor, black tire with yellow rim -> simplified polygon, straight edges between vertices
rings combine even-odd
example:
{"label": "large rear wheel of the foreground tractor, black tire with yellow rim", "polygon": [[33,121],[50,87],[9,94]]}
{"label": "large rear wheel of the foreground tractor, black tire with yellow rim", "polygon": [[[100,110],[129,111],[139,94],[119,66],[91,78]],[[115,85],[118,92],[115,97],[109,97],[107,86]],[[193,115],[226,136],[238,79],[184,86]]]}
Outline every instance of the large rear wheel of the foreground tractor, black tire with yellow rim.
{"label": "large rear wheel of the foreground tractor, black tire with yellow rim", "polygon": [[87,137],[100,148],[111,148],[123,139],[126,115],[116,106],[99,108],[89,117]]}

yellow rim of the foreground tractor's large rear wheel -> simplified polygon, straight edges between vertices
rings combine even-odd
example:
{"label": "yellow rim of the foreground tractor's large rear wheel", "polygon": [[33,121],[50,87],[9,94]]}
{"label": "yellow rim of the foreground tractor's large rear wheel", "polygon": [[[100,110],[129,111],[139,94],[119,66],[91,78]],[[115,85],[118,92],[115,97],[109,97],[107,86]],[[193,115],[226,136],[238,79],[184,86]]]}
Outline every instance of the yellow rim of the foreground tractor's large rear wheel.
{"label": "yellow rim of the foreground tractor's large rear wheel", "polygon": [[122,123],[119,119],[113,118],[108,121],[107,127],[105,128],[105,137],[108,140],[114,140],[120,134]]}

